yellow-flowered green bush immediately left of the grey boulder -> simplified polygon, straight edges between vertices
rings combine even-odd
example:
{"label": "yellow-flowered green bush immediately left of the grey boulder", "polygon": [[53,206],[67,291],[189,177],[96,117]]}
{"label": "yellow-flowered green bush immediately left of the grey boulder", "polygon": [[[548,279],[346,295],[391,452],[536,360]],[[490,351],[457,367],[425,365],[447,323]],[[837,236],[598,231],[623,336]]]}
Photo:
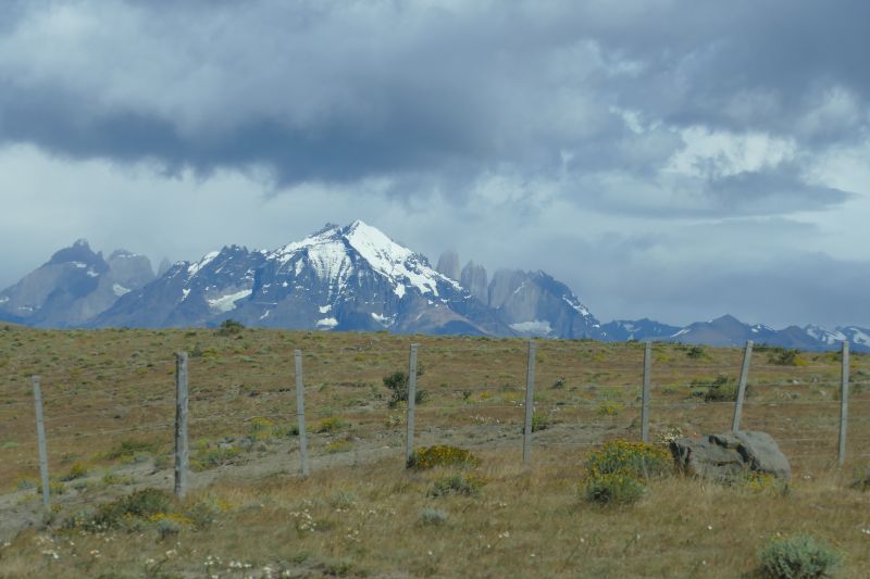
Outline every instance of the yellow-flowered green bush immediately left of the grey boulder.
{"label": "yellow-flowered green bush immediately left of the grey boulder", "polygon": [[670,454],[645,442],[613,440],[586,458],[586,500],[600,504],[631,504],[644,495],[645,480],[672,469]]}

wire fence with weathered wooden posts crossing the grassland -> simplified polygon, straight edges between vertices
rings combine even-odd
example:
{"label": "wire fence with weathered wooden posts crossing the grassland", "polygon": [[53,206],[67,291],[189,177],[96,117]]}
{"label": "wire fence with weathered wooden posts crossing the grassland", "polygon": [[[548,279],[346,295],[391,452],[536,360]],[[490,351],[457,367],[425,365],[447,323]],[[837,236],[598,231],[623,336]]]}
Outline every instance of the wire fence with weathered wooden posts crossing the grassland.
{"label": "wire fence with weathered wooden posts crossing the grassland", "polygon": [[[806,457],[821,457],[826,456],[831,464],[842,467],[847,457],[847,441],[848,441],[848,426],[849,424],[859,425],[863,427],[870,416],[858,415],[849,416],[849,390],[852,387],[862,388],[865,385],[870,383],[868,380],[854,380],[849,379],[849,350],[848,343],[843,342],[840,352],[840,379],[819,379],[813,378],[811,385],[815,388],[833,389],[838,400],[801,400],[798,398],[785,397],[781,400],[766,400],[754,401],[747,400],[747,388],[759,387],[792,387],[795,380],[779,381],[749,381],[751,370],[751,356],[754,344],[748,341],[744,349],[743,363],[739,367],[738,378],[735,385],[736,395],[735,400],[710,400],[697,402],[693,400],[683,400],[679,402],[672,401],[658,401],[654,395],[654,388],[661,394],[669,389],[688,388],[688,389],[713,389],[722,386],[721,380],[682,380],[682,381],[657,381],[655,380],[654,372],[657,368],[667,368],[669,372],[688,370],[699,372],[709,369],[712,372],[721,372],[721,366],[712,368],[704,368],[697,365],[684,366],[681,364],[666,364],[659,366],[655,363],[652,343],[645,342],[643,349],[643,360],[633,361],[632,364],[626,364],[624,361],[619,361],[609,364],[606,360],[597,360],[595,364],[591,364],[593,370],[600,370],[602,374],[612,372],[638,370],[639,380],[636,382],[619,381],[616,383],[587,383],[584,387],[575,387],[573,400],[569,397],[556,397],[558,400],[552,400],[551,392],[557,389],[557,385],[562,378],[558,378],[550,390],[547,392],[539,392],[536,394],[536,382],[539,386],[540,377],[536,377],[537,372],[537,342],[529,340],[525,344],[525,386],[514,387],[505,383],[497,387],[504,395],[494,398],[492,395],[493,386],[481,386],[474,380],[469,380],[467,383],[460,386],[442,383],[438,387],[438,392],[448,397],[447,403],[427,404],[422,403],[418,408],[418,376],[421,374],[421,366],[418,358],[422,354],[421,360],[426,360],[427,356],[435,358],[440,356],[442,360],[451,360],[458,354],[476,356],[477,354],[486,355],[494,366],[505,362],[505,358],[515,358],[522,354],[522,350],[518,347],[501,348],[488,347],[478,350],[469,348],[431,348],[421,349],[418,343],[412,343],[407,353],[399,351],[390,351],[389,355],[376,365],[369,369],[370,374],[388,372],[389,368],[396,367],[396,362],[407,355],[408,373],[407,377],[407,391],[405,392],[403,405],[384,405],[383,401],[378,400],[377,404],[368,404],[356,408],[344,408],[344,416],[352,416],[358,424],[365,424],[369,426],[380,424],[399,423],[398,408],[403,411],[405,423],[405,460],[409,461],[417,450],[418,433],[420,432],[420,425],[427,427],[436,425],[439,421],[447,423],[447,427],[455,426],[456,415],[470,411],[473,413],[471,416],[475,425],[502,425],[509,427],[511,431],[515,431],[521,436],[522,445],[522,464],[526,467],[533,465],[533,451],[536,448],[540,449],[583,449],[593,446],[600,443],[605,438],[610,436],[612,429],[605,429],[599,432],[593,432],[591,436],[579,440],[571,436],[546,437],[542,436],[544,432],[540,430],[540,425],[536,424],[542,416],[564,417],[563,420],[572,420],[566,423],[568,430],[577,430],[595,426],[602,421],[608,420],[611,416],[617,414],[614,408],[619,411],[630,410],[635,414],[635,419],[629,425],[631,436],[636,437],[638,440],[648,442],[651,439],[651,420],[657,413],[664,411],[673,411],[678,414],[692,414],[696,418],[696,424],[703,421],[705,426],[714,426],[717,429],[732,431],[741,430],[742,426],[746,423],[759,425],[765,429],[772,430],[774,433],[780,432],[782,437],[774,437],[787,450],[797,449],[801,452],[788,452],[790,457],[806,458]],[[306,392],[311,391],[314,387],[313,382],[306,385],[306,372],[303,366],[314,366],[313,370],[309,370],[308,376],[316,376],[319,367],[324,365],[334,364],[334,360],[339,355],[352,354],[356,361],[362,353],[383,353],[378,350],[376,344],[370,344],[365,348],[345,348],[340,350],[330,351],[319,349],[315,352],[302,353],[301,350],[293,352],[291,360],[294,362],[293,377],[294,387],[286,386],[288,372],[275,370],[276,388],[271,390],[264,389],[263,391],[249,390],[243,392],[244,385],[239,386],[234,392],[224,392],[223,395],[215,393],[213,388],[208,383],[208,379],[198,374],[192,376],[188,374],[189,358],[188,353],[179,352],[175,358],[175,391],[169,389],[166,391],[142,392],[141,387],[124,386],[123,379],[115,379],[115,382],[110,387],[103,388],[101,397],[88,401],[89,408],[80,412],[60,412],[66,407],[71,400],[79,395],[77,388],[72,386],[66,392],[51,393],[46,397],[42,391],[42,385],[46,383],[46,377],[33,376],[33,407],[34,417],[36,420],[36,446],[39,457],[39,470],[41,480],[42,502],[46,505],[50,504],[50,482],[49,482],[49,449],[54,442],[70,442],[87,440],[92,438],[117,437],[119,435],[148,432],[148,433],[172,433],[174,442],[174,491],[178,496],[184,496],[189,490],[189,471],[190,471],[190,427],[198,429],[200,426],[215,426],[226,427],[227,425],[252,424],[257,419],[273,418],[283,419],[295,418],[296,430],[298,433],[298,454],[299,463],[298,470],[302,477],[310,475],[311,466],[309,460],[309,441],[308,433],[310,428],[307,425],[307,419],[313,420],[327,420],[335,418],[336,411],[331,405],[323,407],[314,406],[313,412],[306,408]],[[245,364],[274,364],[279,362],[286,364],[290,356],[285,356],[279,353],[269,353],[258,356],[238,356],[237,362]],[[347,360],[341,363],[348,363]],[[600,366],[598,366],[600,364]],[[734,368],[724,368],[725,372],[733,370]],[[558,368],[549,368],[550,373],[557,372]],[[810,366],[805,365],[804,370],[820,370],[830,372],[830,365]],[[135,368],[132,372],[137,372]],[[69,373],[74,376],[77,383],[90,383],[92,381],[104,381],[105,370],[101,368],[73,368]],[[63,376],[51,376],[51,380],[64,381]],[[188,381],[194,383],[189,388]],[[461,380],[461,375],[458,378]],[[358,386],[356,382],[347,382],[350,386]],[[359,382],[364,383],[364,382]],[[278,386],[284,385],[284,386]],[[321,385],[320,389],[325,388]],[[564,385],[558,386],[561,390]],[[823,392],[824,393],[824,392]],[[174,395],[173,395],[174,394]],[[295,394],[295,395],[294,395]],[[583,398],[583,395],[595,394],[593,398]],[[625,401],[625,395],[629,401]],[[245,399],[248,399],[245,401]],[[833,397],[832,397],[833,398]],[[129,401],[134,400],[135,405],[129,406]],[[245,401],[243,411],[239,406]],[[422,399],[421,399],[422,402]],[[858,407],[870,402],[867,399],[857,399],[853,404],[858,404]],[[28,402],[24,400],[7,401],[2,405],[4,410],[9,408],[25,408]],[[794,416],[779,417],[775,412],[778,408],[788,405],[794,410]],[[309,404],[310,406],[310,404]],[[403,406],[403,407],[402,407]],[[838,419],[833,420],[835,408],[838,407]],[[830,408],[830,412],[821,412]],[[49,411],[46,413],[46,411]],[[744,417],[746,413],[746,417]],[[174,419],[173,419],[174,415]],[[731,419],[728,420],[730,415]],[[505,423],[501,421],[505,416],[508,416]],[[124,419],[129,426],[120,426],[113,428],[94,428],[88,431],[69,431],[69,426],[72,420],[77,418],[88,418],[95,424],[104,425],[114,424],[119,419]],[[786,421],[782,425],[776,423],[776,419]],[[809,425],[809,426],[808,426]],[[612,425],[611,425],[612,426]],[[659,425],[660,426],[660,425]],[[515,427],[520,427],[517,429]],[[813,436],[806,436],[807,428],[812,428]],[[2,432],[2,426],[0,426]],[[626,430],[623,429],[619,433],[625,435]],[[862,431],[862,433],[865,433]],[[444,439],[446,432],[440,430],[427,431],[428,439]],[[537,435],[537,437],[535,436]],[[832,448],[831,442],[836,441],[836,449]],[[520,443],[518,442],[518,446]],[[870,454],[862,454],[860,452],[853,452],[853,458],[863,458]]]}

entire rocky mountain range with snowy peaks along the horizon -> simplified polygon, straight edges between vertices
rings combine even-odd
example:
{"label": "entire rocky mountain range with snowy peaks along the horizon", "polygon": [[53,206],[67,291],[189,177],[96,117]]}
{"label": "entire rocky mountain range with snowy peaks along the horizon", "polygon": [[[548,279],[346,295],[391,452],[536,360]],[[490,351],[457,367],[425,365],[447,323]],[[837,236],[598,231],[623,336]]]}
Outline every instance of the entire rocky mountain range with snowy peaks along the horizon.
{"label": "entire rocky mountain range with snowy peaks along the horizon", "polygon": [[195,262],[161,264],[125,250],[104,259],[87,241],[54,253],[0,292],[0,320],[40,328],[248,326],[539,336],[693,344],[757,343],[870,352],[870,330],[748,325],[732,316],[685,327],[651,319],[601,324],[564,284],[544,272],[498,269],[492,279],[456,252],[428,260],[357,221],[326,225],[275,250],[227,246]]}

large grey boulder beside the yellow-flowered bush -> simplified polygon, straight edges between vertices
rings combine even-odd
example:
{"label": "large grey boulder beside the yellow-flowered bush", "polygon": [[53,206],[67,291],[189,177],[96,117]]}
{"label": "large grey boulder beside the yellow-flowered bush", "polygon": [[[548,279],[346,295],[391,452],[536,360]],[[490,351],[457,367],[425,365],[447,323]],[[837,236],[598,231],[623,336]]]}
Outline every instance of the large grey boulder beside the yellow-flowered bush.
{"label": "large grey boulder beside the yellow-flowered bush", "polygon": [[788,458],[767,432],[743,430],[700,438],[679,438],[671,454],[684,473],[726,482],[746,473],[772,475],[788,480]]}

